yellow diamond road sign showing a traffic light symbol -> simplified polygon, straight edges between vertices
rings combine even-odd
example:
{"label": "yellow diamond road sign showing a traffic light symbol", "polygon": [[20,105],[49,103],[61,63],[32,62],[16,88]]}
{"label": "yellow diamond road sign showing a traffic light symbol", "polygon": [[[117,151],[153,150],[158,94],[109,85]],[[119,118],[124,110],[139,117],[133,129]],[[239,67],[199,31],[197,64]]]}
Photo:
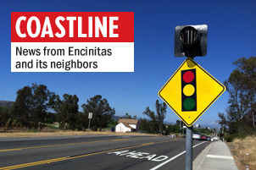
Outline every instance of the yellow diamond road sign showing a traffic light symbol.
{"label": "yellow diamond road sign showing a traffic light symbol", "polygon": [[186,58],[159,90],[159,96],[191,127],[224,91],[224,85],[191,58]]}

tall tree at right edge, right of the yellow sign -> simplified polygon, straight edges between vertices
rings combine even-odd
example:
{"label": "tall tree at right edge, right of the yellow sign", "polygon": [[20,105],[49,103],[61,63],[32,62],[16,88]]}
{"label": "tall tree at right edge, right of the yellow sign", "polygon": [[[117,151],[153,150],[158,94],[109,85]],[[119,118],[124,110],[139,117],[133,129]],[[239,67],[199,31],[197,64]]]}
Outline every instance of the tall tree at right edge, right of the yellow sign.
{"label": "tall tree at right edge, right of the yellow sign", "polygon": [[237,66],[224,85],[229,92],[229,106],[219,113],[221,124],[228,126],[231,134],[253,132],[256,111],[256,58],[239,58]]}

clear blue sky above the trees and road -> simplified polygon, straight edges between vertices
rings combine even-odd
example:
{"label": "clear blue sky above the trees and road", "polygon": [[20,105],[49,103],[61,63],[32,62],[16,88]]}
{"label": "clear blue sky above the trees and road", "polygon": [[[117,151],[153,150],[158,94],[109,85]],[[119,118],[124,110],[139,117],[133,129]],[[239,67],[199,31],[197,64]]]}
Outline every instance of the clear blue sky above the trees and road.
{"label": "clear blue sky above the trees and road", "polygon": [[[1,1],[0,101],[15,101],[16,91],[35,83],[63,96],[76,95],[81,105],[101,95],[116,116],[128,112],[147,118],[148,106],[164,102],[159,90],[186,59],[174,57],[176,25],[208,25],[208,51],[194,61],[223,83],[236,69],[238,58],[255,57],[256,2],[248,1]],[[134,72],[120,73],[15,73],[11,72],[11,12],[134,12]],[[196,123],[212,124],[225,112],[225,91]],[[169,107],[164,121],[178,118]]]}

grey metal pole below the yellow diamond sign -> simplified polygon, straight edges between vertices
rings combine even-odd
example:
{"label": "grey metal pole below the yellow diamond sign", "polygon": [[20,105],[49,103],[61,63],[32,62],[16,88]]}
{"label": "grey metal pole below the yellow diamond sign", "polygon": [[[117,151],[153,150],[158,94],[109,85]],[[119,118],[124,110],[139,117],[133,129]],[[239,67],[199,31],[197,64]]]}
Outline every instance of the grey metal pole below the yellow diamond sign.
{"label": "grey metal pole below the yellow diamond sign", "polygon": [[186,127],[186,163],[185,170],[192,170],[192,127]]}

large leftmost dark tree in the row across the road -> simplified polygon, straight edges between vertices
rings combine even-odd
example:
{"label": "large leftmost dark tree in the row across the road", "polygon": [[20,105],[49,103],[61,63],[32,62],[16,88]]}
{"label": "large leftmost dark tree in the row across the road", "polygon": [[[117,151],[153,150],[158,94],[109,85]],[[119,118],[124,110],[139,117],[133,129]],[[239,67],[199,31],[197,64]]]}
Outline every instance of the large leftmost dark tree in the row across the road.
{"label": "large leftmost dark tree in the row across the road", "polygon": [[47,89],[46,85],[25,86],[19,89],[14,105],[11,109],[12,115],[18,122],[25,127],[36,129],[40,126],[40,122],[46,116],[49,108],[49,99],[53,96],[53,92]]}

